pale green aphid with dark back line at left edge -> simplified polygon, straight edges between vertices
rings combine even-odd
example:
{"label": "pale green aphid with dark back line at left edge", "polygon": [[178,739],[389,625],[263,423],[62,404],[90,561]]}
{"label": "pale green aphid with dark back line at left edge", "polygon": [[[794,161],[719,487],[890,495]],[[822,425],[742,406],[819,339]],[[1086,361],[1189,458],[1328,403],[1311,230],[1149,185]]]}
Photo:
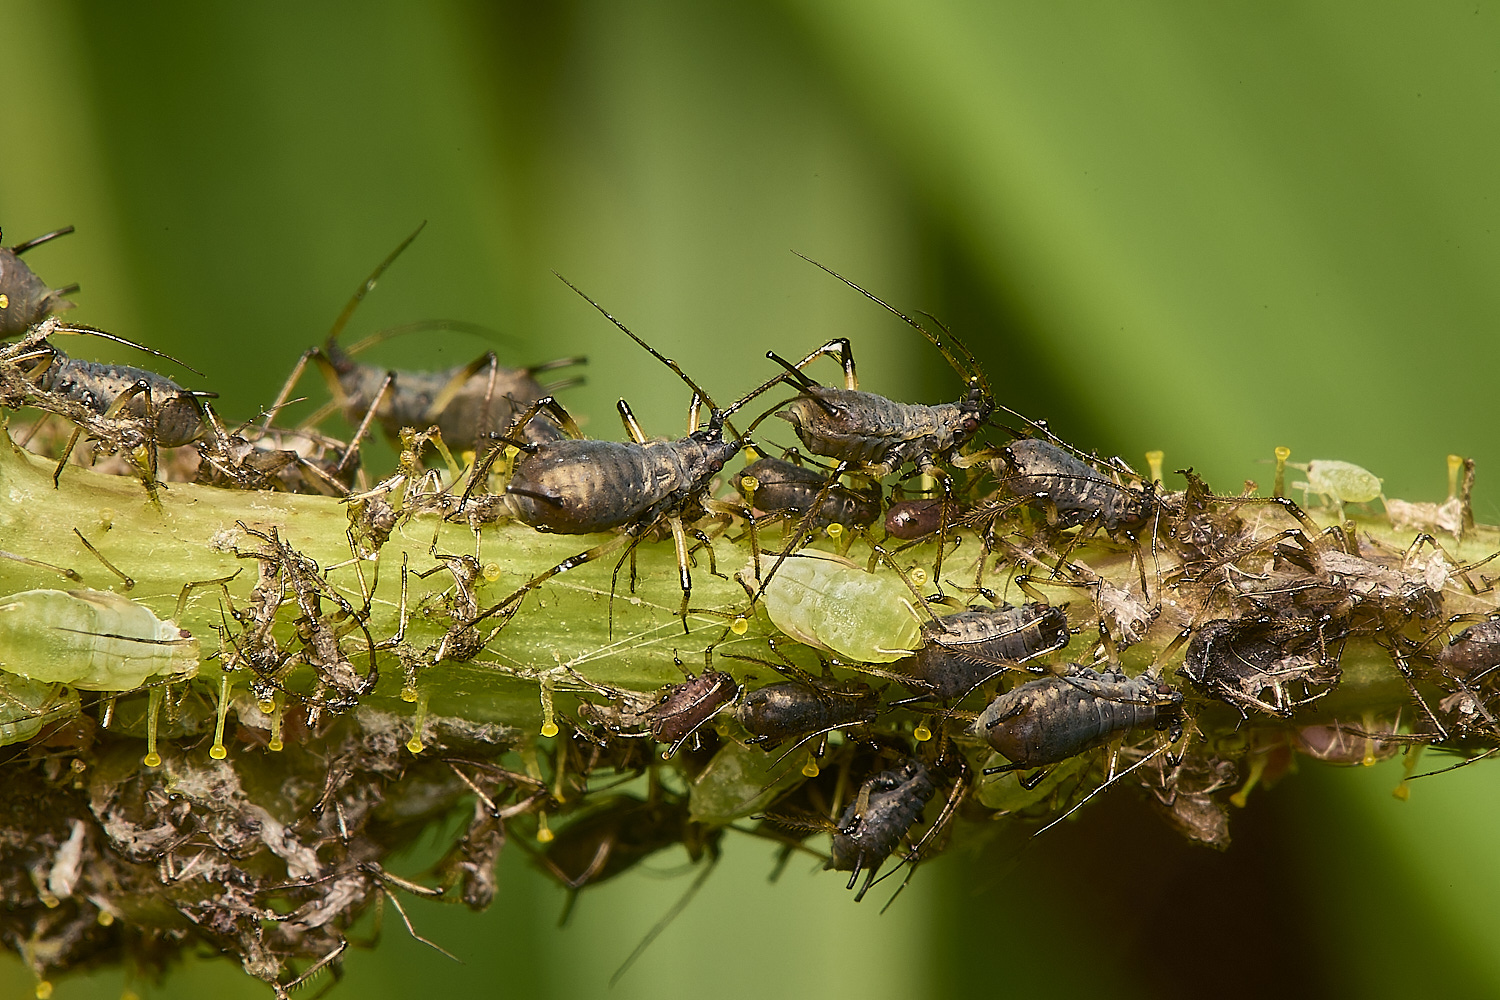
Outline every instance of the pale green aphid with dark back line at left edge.
{"label": "pale green aphid with dark back line at left edge", "polygon": [[130,691],[198,673],[198,640],[111,591],[0,598],[0,670],[84,691]]}

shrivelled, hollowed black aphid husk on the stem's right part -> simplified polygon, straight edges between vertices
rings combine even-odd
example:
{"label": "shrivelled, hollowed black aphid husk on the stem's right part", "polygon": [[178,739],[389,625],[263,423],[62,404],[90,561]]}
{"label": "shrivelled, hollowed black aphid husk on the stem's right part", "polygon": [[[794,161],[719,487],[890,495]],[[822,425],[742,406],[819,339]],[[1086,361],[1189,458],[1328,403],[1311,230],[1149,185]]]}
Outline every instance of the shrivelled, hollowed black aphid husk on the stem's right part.
{"label": "shrivelled, hollowed black aphid husk on the stem's right part", "polygon": [[1192,633],[1180,673],[1242,717],[1256,709],[1290,718],[1338,685],[1338,652],[1329,646],[1347,634],[1326,616],[1214,619]]}

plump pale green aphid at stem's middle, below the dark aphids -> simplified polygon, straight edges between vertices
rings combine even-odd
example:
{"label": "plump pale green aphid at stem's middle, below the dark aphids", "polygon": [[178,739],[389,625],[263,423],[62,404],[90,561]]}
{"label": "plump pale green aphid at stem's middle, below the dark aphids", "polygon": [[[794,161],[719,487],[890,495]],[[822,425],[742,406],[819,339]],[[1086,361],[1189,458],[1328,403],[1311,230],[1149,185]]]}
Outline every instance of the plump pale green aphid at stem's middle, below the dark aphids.
{"label": "plump pale green aphid at stem's middle, below the dark aphids", "polygon": [[[765,610],[792,639],[856,663],[894,663],[921,642],[926,601],[896,573],[867,573],[826,552],[802,552],[780,561],[760,556]],[[918,612],[921,609],[921,612]]]}

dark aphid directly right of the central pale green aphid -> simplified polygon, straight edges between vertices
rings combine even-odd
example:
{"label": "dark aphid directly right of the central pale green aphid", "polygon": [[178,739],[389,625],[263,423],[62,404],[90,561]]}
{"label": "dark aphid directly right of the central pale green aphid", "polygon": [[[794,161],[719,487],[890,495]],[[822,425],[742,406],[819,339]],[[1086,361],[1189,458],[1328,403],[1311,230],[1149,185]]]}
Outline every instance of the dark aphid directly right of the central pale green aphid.
{"label": "dark aphid directly right of the central pale green aphid", "polygon": [[922,625],[922,646],[906,661],[915,693],[940,702],[969,694],[1008,669],[1068,645],[1068,613],[1048,604],[970,607]]}

